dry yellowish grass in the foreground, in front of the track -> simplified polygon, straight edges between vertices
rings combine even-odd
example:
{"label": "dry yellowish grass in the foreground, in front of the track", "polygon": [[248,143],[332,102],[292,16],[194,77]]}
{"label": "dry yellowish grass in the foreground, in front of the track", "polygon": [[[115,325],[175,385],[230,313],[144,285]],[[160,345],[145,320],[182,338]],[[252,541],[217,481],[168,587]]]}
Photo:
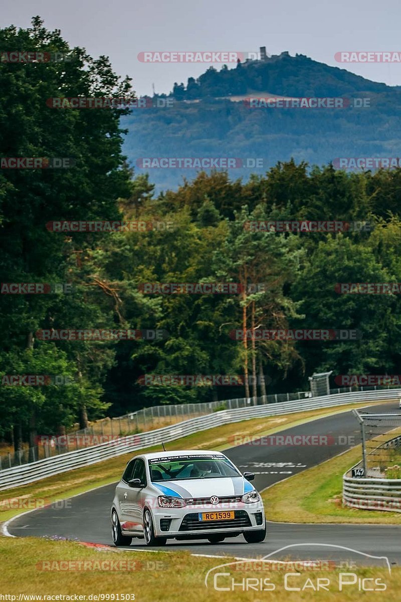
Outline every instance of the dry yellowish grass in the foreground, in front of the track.
{"label": "dry yellowish grass in the foreground, in front of the track", "polygon": [[[213,553],[210,548],[207,550]],[[194,598],[197,602],[210,602],[210,600],[260,602],[261,598],[274,599],[275,602],[298,602],[311,597],[314,593],[313,587],[316,588],[317,579],[320,578],[326,580],[328,591],[320,589],[317,594],[319,600],[347,602],[358,600],[363,595],[364,600],[377,601],[378,594],[383,593],[382,600],[393,602],[399,600],[401,588],[401,568],[393,568],[390,575],[387,568],[373,567],[353,569],[353,572],[360,578],[372,579],[366,582],[369,588],[372,588],[372,585],[375,587],[374,580],[379,579],[380,583],[386,585],[385,592],[360,591],[358,581],[354,585],[345,586],[340,592],[338,569],[329,572],[300,570],[298,573],[293,573],[289,577],[287,586],[300,588],[301,591],[287,591],[284,587],[284,571],[264,571],[262,574],[251,562],[224,566],[218,571],[213,571],[206,588],[204,580],[207,571],[230,562],[230,558],[223,560],[195,557],[185,551],[169,554],[139,553],[115,548],[94,549],[84,547],[78,542],[35,538],[0,537],[0,556],[2,557],[0,591],[3,595],[16,596],[14,598],[16,601],[19,600],[19,596],[24,600],[24,594],[40,595],[42,601],[46,600],[44,596],[52,595],[72,596],[64,600],[74,600],[75,594],[85,595],[87,601],[96,600],[94,597],[89,598],[91,594],[93,596],[102,594],[103,600],[121,600],[123,599],[121,594],[124,594],[124,597],[130,594],[126,599],[132,600],[132,595],[135,595],[136,602],[176,602],[176,600],[186,602]],[[81,566],[80,570],[76,569],[78,566]],[[239,571],[241,568],[242,570]],[[227,589],[218,591],[213,587],[213,576],[217,572],[224,572],[226,575],[218,577],[216,585],[218,588]],[[293,571],[289,569],[288,572]],[[234,591],[232,590],[232,580],[236,584],[241,584],[246,578],[253,579],[252,587],[248,586],[247,591],[242,591],[241,586],[236,585]],[[346,579],[350,581],[349,577]],[[263,594],[268,592],[268,596],[261,592],[261,580],[266,580],[265,583],[262,582],[262,587],[265,588],[262,591]],[[248,583],[249,581],[245,581],[246,585]],[[269,588],[266,588],[266,583],[269,583]],[[307,584],[306,588],[302,591],[305,584]],[[63,600],[61,597],[58,599]]]}

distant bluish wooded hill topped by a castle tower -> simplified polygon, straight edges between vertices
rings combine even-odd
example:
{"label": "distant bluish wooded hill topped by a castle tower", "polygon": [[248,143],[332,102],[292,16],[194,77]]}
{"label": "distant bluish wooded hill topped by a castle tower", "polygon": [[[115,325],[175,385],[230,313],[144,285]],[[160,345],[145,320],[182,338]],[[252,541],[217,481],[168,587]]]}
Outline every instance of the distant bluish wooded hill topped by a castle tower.
{"label": "distant bluish wooded hill topped by a castle tower", "polygon": [[[370,107],[249,108],[249,96],[369,99]],[[123,118],[129,130],[124,151],[136,164],[141,157],[263,158],[263,167],[229,170],[233,178],[264,173],[277,161],[325,164],[337,157],[399,157],[401,87],[373,82],[346,69],[329,67],[287,52],[233,69],[209,67],[170,96],[153,103],[173,107],[136,108]],[[252,161],[250,162],[252,164]],[[148,171],[157,190],[176,188],[193,169]]]}

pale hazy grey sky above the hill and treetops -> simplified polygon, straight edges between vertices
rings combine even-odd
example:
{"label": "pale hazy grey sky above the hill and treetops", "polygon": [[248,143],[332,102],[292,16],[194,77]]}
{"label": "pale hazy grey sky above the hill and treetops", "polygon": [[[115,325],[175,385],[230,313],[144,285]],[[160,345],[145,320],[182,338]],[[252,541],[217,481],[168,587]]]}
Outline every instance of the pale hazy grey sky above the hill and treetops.
{"label": "pale hazy grey sky above the hill and treetops", "polygon": [[209,66],[141,63],[139,52],[257,51],[259,46],[269,54],[298,52],[401,85],[401,63],[334,60],[338,51],[401,51],[400,0],[14,0],[2,5],[1,26],[26,28],[35,14],[47,28],[60,28],[70,45],[84,46],[94,57],[108,55],[115,72],[133,78],[138,95],[151,94],[153,82],[156,92],[168,93],[174,81],[186,84]]}

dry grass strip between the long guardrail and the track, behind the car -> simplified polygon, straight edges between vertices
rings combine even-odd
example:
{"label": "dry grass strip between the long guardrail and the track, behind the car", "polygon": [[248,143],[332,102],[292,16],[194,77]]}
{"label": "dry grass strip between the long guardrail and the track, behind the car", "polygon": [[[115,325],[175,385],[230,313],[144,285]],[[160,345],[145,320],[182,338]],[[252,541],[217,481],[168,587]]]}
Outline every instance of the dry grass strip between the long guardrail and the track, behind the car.
{"label": "dry grass strip between the long guardrail and the track, behind the car", "polygon": [[[269,435],[284,428],[316,420],[316,418],[340,414],[352,408],[376,405],[377,403],[380,402],[376,401],[371,404],[360,402],[347,406],[322,408],[276,417],[253,418],[238,423],[225,424],[224,426],[204,430],[194,435],[177,439],[168,443],[167,448],[170,451],[179,449],[224,450],[233,446],[233,437],[235,435]],[[1,492],[0,497],[0,521],[7,521],[17,514],[26,512],[28,509],[43,507],[44,503],[51,503],[52,501],[65,499],[71,495],[83,493],[89,489],[114,483],[120,479],[124,466],[134,454],[157,450],[160,450],[160,446],[148,447],[145,450],[138,450],[135,453],[130,452],[84,468],[76,468],[66,473],[46,477],[28,485],[6,489]]]}

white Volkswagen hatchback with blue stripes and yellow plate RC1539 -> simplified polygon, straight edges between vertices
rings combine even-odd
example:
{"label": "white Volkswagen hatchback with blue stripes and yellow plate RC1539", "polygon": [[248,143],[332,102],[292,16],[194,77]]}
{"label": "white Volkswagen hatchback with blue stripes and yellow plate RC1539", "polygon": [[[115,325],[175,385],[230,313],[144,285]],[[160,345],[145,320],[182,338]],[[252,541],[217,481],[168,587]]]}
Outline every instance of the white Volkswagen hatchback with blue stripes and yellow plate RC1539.
{"label": "white Volkswagen hatchback with blue stripes and yellow plate RC1539", "polygon": [[248,543],[266,536],[262,499],[219,452],[156,452],[130,460],[115,488],[111,508],[115,545],[133,537],[147,545],[167,539],[208,539],[218,543],[243,533]]}

